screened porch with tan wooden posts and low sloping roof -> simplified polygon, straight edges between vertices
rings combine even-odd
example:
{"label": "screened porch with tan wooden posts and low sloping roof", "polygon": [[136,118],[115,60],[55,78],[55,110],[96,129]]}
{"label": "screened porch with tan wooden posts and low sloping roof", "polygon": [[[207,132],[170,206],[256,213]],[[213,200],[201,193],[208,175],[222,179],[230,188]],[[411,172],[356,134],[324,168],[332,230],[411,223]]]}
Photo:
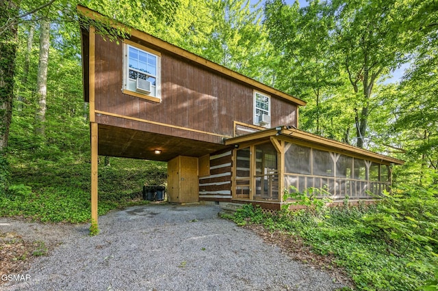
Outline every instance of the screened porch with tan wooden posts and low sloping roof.
{"label": "screened porch with tan wooden posts and low sloping roof", "polygon": [[234,202],[279,209],[283,190],[324,189],[333,202],[372,201],[391,186],[396,158],[279,126],[227,139],[234,146]]}

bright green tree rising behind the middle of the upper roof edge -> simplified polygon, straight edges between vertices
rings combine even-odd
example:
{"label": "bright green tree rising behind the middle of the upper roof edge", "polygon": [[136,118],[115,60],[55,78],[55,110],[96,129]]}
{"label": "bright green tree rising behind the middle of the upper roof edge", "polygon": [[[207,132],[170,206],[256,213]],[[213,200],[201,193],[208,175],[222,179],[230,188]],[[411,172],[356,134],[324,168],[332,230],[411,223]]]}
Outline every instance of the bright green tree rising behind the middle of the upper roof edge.
{"label": "bright green tree rising behind the middle of the upper roof edge", "polygon": [[270,85],[272,46],[261,26],[261,8],[248,0],[210,0],[207,6],[213,27],[201,55]]}

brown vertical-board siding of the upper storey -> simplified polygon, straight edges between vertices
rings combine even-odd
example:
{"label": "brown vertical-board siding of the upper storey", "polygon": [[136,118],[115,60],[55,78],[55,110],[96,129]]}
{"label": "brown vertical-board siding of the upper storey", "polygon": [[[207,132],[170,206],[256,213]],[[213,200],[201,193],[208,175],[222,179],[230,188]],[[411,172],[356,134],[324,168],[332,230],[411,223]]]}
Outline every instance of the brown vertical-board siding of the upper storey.
{"label": "brown vertical-board siding of the upper storey", "polygon": [[[122,41],[117,44],[96,35],[96,110],[170,126],[104,114],[97,116],[96,122],[212,143],[222,143],[222,137],[208,133],[232,137],[233,121],[253,123],[253,87],[163,51],[162,102],[151,102],[123,94],[122,44]],[[159,51],[159,48],[153,49]],[[272,126],[296,125],[296,105],[292,102],[272,98],[271,113]],[[205,133],[172,126],[192,128]]]}

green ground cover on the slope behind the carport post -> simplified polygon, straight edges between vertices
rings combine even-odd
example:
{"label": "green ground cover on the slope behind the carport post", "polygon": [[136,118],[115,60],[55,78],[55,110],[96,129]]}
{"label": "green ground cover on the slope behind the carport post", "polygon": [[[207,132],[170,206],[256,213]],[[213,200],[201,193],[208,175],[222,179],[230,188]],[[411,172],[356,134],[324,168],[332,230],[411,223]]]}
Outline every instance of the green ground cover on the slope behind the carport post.
{"label": "green ground cover on the slope behind the carport post", "polygon": [[[103,158],[102,158],[103,161]],[[99,215],[144,204],[142,186],[166,183],[166,163],[111,158],[99,165]],[[90,221],[90,163],[38,163],[12,167],[12,186],[0,197],[0,216],[42,222]]]}

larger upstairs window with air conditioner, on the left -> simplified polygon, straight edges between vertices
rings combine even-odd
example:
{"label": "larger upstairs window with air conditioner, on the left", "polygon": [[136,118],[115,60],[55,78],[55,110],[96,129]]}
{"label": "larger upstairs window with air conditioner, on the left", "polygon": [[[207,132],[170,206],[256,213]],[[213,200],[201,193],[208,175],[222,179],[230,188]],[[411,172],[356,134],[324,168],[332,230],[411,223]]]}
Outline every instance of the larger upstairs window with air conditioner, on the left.
{"label": "larger upstairs window with air conditioner, on the left", "polygon": [[123,93],[159,101],[160,63],[159,53],[126,44]]}

